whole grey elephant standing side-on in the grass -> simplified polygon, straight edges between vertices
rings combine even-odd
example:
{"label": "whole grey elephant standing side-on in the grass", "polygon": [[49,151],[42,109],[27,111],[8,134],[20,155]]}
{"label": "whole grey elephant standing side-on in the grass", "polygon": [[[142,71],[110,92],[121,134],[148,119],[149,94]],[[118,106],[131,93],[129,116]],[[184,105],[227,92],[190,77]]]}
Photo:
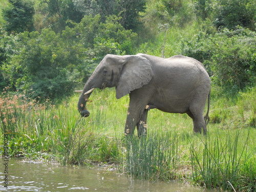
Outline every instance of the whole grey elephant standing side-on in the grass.
{"label": "whole grey elephant standing side-on in the grass", "polygon": [[[89,116],[86,102],[92,88],[116,87],[116,98],[130,94],[124,134],[146,134],[147,112],[186,113],[193,119],[194,132],[206,134],[210,78],[196,59],[176,55],[170,58],[137,55],[106,55],[84,86],[78,101],[81,116]],[[203,116],[208,98],[208,110]]]}

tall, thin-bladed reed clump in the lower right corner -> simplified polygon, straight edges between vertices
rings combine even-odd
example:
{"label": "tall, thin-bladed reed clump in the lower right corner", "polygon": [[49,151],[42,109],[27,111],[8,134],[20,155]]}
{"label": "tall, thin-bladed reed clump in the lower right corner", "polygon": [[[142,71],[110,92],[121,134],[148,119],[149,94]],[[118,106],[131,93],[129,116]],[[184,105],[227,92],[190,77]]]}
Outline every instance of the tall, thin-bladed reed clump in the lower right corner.
{"label": "tall, thin-bladed reed clump in the lower right corner", "polygon": [[[252,160],[255,160],[256,148],[249,146],[250,130],[247,133],[237,130],[232,134],[229,131],[226,135],[222,133],[215,137],[208,134],[200,138],[200,143],[190,142],[192,178],[195,183],[228,191],[255,190],[256,172]],[[242,134],[246,134],[246,137]],[[249,169],[251,167],[254,168]]]}

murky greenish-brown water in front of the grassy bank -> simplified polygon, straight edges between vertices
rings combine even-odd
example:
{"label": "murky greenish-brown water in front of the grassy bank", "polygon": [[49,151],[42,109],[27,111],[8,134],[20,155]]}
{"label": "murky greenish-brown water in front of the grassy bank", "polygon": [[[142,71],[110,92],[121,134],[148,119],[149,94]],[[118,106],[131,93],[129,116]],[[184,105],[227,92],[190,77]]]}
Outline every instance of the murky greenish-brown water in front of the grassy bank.
{"label": "murky greenish-brown water in front of the grassy bank", "polygon": [[[88,167],[63,167],[14,158],[0,158],[0,163],[0,191],[208,191],[175,182],[134,181],[115,171]],[[7,178],[4,172],[8,172]]]}

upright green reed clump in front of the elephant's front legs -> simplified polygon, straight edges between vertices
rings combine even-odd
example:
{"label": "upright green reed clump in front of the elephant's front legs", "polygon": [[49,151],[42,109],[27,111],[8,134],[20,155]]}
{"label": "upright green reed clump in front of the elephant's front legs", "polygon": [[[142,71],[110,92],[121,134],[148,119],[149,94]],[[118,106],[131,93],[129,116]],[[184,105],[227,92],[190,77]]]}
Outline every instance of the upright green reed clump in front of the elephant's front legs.
{"label": "upright green reed clump in front of the elephant's front legs", "polygon": [[125,173],[136,179],[176,179],[174,170],[179,167],[181,155],[178,138],[176,132],[154,132],[141,138],[128,136]]}

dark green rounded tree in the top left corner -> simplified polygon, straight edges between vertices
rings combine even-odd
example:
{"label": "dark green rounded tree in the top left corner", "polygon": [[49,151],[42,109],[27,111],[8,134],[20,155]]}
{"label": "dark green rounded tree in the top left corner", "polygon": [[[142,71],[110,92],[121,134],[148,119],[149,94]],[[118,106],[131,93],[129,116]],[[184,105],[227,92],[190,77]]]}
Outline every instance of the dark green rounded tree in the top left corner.
{"label": "dark green rounded tree in the top left corner", "polygon": [[10,5],[3,9],[6,24],[4,29],[11,33],[33,31],[34,7],[31,0],[9,0]]}

